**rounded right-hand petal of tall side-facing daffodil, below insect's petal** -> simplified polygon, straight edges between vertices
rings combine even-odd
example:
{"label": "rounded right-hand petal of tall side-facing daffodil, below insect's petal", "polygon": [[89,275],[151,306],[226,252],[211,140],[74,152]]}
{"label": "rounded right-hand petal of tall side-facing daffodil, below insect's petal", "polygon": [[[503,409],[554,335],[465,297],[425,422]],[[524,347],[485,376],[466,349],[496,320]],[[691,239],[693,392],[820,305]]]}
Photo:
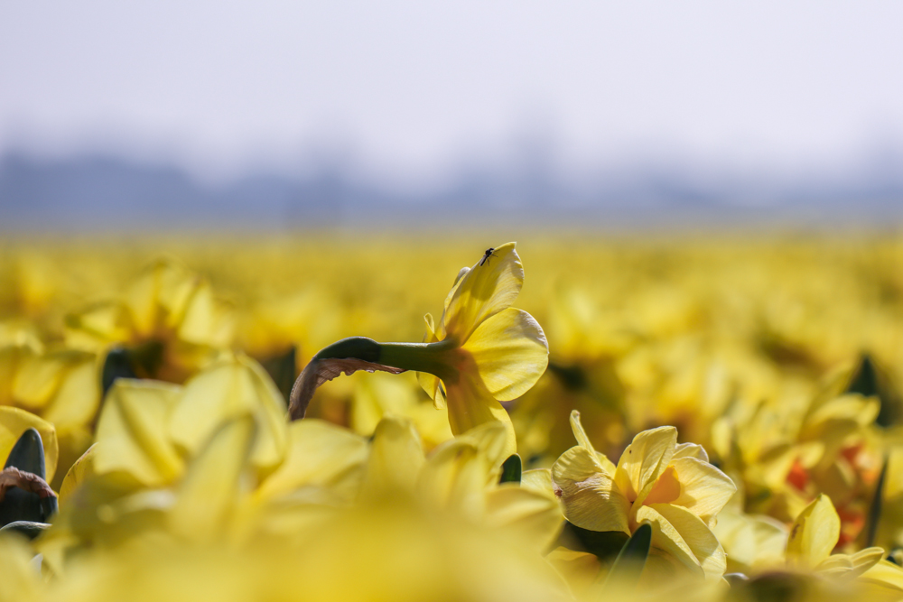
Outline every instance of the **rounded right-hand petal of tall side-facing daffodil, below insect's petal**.
{"label": "rounded right-hand petal of tall side-facing daffodil, below insect's petal", "polygon": [[499,401],[525,394],[549,365],[543,329],[524,310],[508,308],[481,323],[464,345],[479,376]]}

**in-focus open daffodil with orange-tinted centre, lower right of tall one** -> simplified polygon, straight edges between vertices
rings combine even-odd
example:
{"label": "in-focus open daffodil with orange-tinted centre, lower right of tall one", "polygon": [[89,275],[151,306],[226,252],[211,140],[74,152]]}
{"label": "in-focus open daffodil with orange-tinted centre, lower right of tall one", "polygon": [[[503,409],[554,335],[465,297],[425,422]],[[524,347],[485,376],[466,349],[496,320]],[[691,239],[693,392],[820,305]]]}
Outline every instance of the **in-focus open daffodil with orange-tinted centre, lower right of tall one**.
{"label": "in-focus open daffodil with orange-tinted centre, lower right of tall one", "polygon": [[709,464],[705,450],[677,445],[676,429],[660,427],[639,433],[616,467],[593,449],[578,412],[572,425],[580,445],[565,451],[552,468],[564,517],[597,532],[630,534],[651,523],[647,567],[672,572],[669,565],[676,564],[720,579],[726,560],[712,525],[736,487]]}

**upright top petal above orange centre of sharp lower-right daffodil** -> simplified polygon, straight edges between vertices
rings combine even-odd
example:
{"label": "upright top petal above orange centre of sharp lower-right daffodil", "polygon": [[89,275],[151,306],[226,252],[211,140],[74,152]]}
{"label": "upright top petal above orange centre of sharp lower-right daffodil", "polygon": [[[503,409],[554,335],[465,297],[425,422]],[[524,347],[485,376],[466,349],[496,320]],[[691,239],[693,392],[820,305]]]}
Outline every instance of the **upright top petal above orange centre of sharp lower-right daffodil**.
{"label": "upright top petal above orange centre of sharp lower-right daffodil", "polygon": [[643,499],[661,477],[675,453],[677,430],[673,426],[643,431],[633,438],[618,460],[615,480],[631,502]]}

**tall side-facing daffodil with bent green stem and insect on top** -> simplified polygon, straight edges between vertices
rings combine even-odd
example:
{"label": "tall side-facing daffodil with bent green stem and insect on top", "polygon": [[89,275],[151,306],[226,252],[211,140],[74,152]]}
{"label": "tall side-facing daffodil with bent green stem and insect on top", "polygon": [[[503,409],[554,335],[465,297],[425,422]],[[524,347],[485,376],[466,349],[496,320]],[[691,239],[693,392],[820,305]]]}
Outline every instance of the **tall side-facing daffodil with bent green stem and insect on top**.
{"label": "tall side-facing daffodil with bent green stem and insect on top", "polygon": [[302,418],[316,387],[342,372],[415,370],[436,407],[447,405],[452,433],[499,421],[506,425],[507,452],[514,453],[514,427],[499,402],[526,393],[545,372],[549,353],[536,320],[511,307],[523,284],[515,244],[499,246],[461,269],[438,326],[426,315],[423,343],[348,338],[321,350],[295,383],[292,417]]}

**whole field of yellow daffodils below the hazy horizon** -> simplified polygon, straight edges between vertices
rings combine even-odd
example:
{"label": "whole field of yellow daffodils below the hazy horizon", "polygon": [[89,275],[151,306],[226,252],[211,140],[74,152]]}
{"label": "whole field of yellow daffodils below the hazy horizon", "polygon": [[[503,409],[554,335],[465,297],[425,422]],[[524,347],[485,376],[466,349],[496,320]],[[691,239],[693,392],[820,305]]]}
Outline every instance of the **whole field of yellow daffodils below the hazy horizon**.
{"label": "whole field of yellow daffodils below the hazy horizon", "polygon": [[900,600],[901,384],[887,232],[10,238],[0,602]]}

